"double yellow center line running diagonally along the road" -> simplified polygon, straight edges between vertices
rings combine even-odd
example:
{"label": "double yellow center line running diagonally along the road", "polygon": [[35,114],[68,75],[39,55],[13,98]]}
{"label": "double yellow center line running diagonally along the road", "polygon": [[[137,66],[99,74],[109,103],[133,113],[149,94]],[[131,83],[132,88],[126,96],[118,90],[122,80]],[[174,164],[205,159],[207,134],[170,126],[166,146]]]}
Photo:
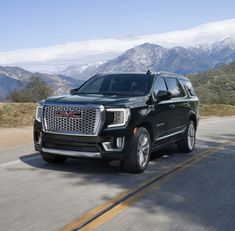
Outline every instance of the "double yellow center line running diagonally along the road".
{"label": "double yellow center line running diagonally along the road", "polygon": [[225,143],[219,144],[216,147],[209,148],[199,154],[196,154],[196,156],[193,156],[190,159],[173,166],[165,173],[152,176],[150,179],[141,182],[133,189],[122,192],[119,195],[115,196],[113,199],[108,200],[107,202],[88,211],[82,217],[61,229],[61,231],[94,230],[101,224],[115,217],[124,209],[128,208],[131,204],[133,204],[133,202],[139,200],[139,198],[141,198],[144,194],[152,191],[153,189],[156,189],[163,182],[169,180],[170,177],[174,176],[174,172],[178,172],[179,170],[190,167],[192,164],[200,161],[208,155],[216,153],[221,148],[233,143],[235,143],[235,141],[227,141]]}

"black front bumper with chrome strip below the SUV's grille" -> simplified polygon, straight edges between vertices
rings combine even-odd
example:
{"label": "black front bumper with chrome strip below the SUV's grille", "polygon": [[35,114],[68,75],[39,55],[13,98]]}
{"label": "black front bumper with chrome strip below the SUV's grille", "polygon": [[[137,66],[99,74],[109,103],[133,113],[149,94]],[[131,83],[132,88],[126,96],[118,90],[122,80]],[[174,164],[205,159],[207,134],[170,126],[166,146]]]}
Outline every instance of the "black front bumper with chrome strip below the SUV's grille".
{"label": "black front bumper with chrome strip below the SUV's grille", "polygon": [[[121,159],[126,155],[132,139],[133,134],[128,131],[126,128],[108,129],[99,136],[52,134],[43,132],[41,123],[35,121],[34,146],[39,152],[68,157]],[[123,141],[119,148],[115,147],[117,138],[122,138]]]}

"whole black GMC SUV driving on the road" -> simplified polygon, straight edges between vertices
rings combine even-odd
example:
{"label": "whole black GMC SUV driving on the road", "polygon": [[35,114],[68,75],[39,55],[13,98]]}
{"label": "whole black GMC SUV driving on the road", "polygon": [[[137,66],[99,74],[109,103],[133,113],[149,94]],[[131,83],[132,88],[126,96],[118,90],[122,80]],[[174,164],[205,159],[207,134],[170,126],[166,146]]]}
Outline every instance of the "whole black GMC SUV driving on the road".
{"label": "whole black GMC SUV driving on the road", "polygon": [[139,173],[164,145],[177,143],[183,152],[194,148],[198,98],[184,76],[97,74],[70,93],[37,107],[34,144],[47,162],[118,159],[125,171]]}

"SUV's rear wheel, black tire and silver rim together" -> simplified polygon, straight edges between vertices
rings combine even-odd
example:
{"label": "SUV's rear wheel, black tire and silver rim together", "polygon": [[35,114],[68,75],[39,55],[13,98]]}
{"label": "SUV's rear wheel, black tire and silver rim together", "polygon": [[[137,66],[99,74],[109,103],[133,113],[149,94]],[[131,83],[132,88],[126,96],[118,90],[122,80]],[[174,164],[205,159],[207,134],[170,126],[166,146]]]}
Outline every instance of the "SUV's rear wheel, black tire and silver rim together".
{"label": "SUV's rear wheel, black tire and silver rim together", "polygon": [[194,149],[196,141],[196,128],[195,123],[190,120],[187,125],[187,129],[183,135],[182,140],[178,142],[178,148],[180,151],[189,153]]}

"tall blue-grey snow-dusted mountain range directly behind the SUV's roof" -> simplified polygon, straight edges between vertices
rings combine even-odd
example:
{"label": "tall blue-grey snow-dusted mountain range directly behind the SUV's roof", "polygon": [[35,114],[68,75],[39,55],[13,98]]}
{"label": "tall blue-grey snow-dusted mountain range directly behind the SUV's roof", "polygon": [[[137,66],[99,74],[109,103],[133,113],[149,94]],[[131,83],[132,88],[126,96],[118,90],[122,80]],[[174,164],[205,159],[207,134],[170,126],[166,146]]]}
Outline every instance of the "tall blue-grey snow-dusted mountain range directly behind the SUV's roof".
{"label": "tall blue-grey snow-dusted mountain range directly behind the SUV's roof", "polygon": [[[78,66],[66,75],[86,80],[96,73],[170,71],[178,74],[199,73],[235,60],[235,39],[228,37],[212,45],[166,48],[144,43],[103,64]],[[71,68],[70,68],[71,69]],[[63,73],[63,72],[61,72]]]}

